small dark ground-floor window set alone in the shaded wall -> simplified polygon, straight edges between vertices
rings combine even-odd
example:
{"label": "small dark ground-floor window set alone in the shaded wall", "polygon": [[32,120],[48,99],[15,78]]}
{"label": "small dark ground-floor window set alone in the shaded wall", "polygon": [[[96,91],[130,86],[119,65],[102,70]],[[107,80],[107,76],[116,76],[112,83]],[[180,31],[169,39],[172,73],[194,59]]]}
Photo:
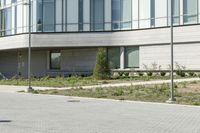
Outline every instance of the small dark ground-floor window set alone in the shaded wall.
{"label": "small dark ground-floor window set alone in the shaded wall", "polygon": [[50,52],[50,69],[60,70],[61,53],[59,51]]}

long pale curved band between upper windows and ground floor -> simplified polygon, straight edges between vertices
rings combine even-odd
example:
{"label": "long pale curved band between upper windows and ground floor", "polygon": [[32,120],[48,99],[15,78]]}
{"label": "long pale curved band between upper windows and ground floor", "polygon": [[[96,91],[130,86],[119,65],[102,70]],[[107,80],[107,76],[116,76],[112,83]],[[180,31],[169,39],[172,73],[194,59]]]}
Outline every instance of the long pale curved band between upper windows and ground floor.
{"label": "long pale curved band between upper windows and ground floor", "polygon": [[[174,28],[175,42],[200,42],[200,25]],[[152,45],[170,42],[169,28],[91,33],[43,33],[32,35],[32,46],[40,47],[97,47]],[[0,50],[28,46],[28,35],[0,38]]]}

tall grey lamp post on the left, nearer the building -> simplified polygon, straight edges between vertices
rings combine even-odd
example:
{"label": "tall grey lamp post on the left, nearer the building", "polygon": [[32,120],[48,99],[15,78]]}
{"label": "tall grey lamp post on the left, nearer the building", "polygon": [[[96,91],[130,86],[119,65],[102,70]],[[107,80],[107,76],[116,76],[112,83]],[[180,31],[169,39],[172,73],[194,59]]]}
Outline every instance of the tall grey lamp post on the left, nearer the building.
{"label": "tall grey lamp post on the left, nearer the building", "polygon": [[33,88],[31,86],[31,0],[28,3],[24,3],[24,5],[29,8],[28,15],[28,35],[29,35],[29,45],[28,45],[28,88],[27,92],[32,92]]}

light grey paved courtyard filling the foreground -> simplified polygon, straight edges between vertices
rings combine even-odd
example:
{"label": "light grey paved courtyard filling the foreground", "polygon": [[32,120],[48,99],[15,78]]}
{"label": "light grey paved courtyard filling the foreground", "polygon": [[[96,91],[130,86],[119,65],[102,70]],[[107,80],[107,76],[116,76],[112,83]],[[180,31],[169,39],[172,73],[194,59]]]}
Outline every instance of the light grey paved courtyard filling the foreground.
{"label": "light grey paved courtyard filling the foreground", "polygon": [[200,133],[200,107],[0,92],[0,133]]}

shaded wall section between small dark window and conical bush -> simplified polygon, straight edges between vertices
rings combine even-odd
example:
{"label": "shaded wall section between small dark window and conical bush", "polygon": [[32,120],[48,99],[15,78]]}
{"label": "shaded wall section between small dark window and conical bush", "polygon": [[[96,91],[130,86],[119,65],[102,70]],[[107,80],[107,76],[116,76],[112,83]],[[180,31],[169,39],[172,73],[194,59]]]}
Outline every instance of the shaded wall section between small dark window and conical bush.
{"label": "shaded wall section between small dark window and conical bush", "polygon": [[96,48],[62,50],[62,71],[92,71],[96,61]]}

